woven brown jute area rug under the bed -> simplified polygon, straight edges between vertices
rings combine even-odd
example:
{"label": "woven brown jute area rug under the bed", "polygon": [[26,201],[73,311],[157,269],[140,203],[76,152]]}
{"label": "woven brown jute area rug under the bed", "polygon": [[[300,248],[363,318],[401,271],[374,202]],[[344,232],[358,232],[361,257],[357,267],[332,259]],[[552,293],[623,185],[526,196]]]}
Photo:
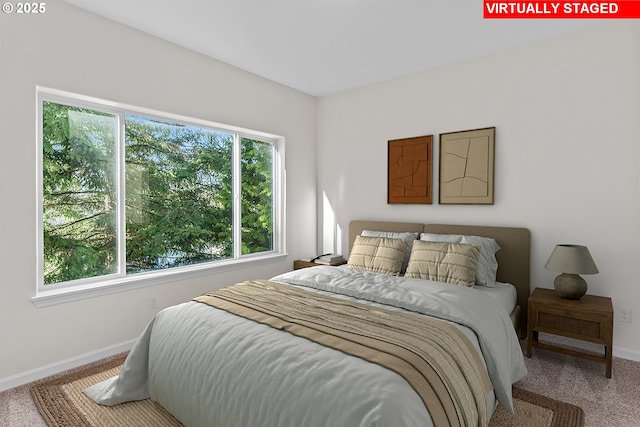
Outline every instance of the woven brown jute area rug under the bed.
{"label": "woven brown jute area rug under the bed", "polygon": [[[182,424],[150,399],[100,406],[82,390],[118,375],[124,357],[94,364],[51,381],[39,382],[31,395],[50,427],[177,427]],[[582,427],[581,408],[514,387],[515,416],[498,406],[489,427]]]}

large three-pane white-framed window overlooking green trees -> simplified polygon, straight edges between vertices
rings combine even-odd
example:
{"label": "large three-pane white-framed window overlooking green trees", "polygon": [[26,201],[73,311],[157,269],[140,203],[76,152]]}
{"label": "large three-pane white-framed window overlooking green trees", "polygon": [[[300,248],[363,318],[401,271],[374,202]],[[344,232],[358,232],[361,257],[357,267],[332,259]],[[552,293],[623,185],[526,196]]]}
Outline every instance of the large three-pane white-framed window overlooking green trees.
{"label": "large three-pane white-framed window overlooking green trees", "polygon": [[281,138],[48,91],[38,104],[40,291],[283,252]]}

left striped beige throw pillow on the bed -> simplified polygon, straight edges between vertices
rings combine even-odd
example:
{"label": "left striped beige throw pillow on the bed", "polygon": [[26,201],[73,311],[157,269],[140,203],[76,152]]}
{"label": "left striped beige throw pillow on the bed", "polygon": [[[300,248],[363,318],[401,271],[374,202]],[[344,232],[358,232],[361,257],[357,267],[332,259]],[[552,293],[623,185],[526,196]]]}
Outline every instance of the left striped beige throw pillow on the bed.
{"label": "left striped beige throw pillow on the bed", "polygon": [[399,276],[406,251],[402,239],[356,236],[347,267]]}

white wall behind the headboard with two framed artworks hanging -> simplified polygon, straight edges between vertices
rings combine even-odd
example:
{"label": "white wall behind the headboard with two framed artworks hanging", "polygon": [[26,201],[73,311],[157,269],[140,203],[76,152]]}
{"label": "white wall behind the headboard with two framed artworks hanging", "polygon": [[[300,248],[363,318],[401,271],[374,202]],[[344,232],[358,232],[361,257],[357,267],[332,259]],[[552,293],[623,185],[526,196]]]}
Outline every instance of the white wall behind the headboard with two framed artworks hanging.
{"label": "white wall behind the headboard with two framed artworks hanging", "polygon": [[[614,354],[640,360],[639,76],[640,25],[621,21],[320,98],[318,212],[345,231],[351,219],[527,227],[532,287],[553,286],[555,244],[587,245],[600,270],[589,292],[633,311],[614,324]],[[438,205],[437,160],[433,204],[386,203],[388,140],[432,134],[438,159],[439,133],[489,126],[494,205]],[[345,233],[324,249],[346,246]]]}

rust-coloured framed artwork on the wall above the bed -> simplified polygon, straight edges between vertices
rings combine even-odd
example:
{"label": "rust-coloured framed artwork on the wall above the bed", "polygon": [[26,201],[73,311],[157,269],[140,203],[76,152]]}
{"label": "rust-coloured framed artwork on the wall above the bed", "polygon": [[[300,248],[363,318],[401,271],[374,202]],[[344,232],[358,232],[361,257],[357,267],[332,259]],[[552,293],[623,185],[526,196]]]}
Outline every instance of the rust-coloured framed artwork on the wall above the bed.
{"label": "rust-coloured framed artwork on the wall above the bed", "polygon": [[387,203],[431,204],[432,135],[389,141]]}

